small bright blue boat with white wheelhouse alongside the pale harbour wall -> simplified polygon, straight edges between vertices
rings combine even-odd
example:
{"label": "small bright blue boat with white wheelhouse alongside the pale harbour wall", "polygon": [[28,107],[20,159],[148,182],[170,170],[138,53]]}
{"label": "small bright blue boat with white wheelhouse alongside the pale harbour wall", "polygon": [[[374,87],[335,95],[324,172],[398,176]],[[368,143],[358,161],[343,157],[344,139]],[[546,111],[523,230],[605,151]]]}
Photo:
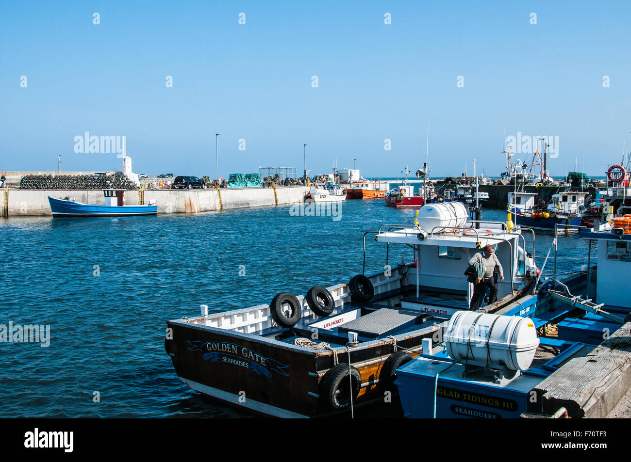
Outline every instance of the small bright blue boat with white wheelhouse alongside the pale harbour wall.
{"label": "small bright blue boat with white wheelhouse alongside the pale harbour wall", "polygon": [[103,189],[105,205],[83,204],[71,198],[48,196],[53,217],[132,217],[156,215],[158,205],[124,205],[124,190]]}

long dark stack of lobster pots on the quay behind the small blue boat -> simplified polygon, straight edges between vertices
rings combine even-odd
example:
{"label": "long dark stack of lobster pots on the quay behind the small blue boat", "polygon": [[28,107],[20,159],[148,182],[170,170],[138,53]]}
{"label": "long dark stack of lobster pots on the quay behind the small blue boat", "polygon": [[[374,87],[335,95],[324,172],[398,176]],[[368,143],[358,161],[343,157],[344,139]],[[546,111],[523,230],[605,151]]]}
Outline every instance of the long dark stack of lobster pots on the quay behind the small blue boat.
{"label": "long dark stack of lobster pots on the quay behind the small blue boat", "polygon": [[20,189],[136,189],[124,173],[114,175],[26,175],[20,180]]}

